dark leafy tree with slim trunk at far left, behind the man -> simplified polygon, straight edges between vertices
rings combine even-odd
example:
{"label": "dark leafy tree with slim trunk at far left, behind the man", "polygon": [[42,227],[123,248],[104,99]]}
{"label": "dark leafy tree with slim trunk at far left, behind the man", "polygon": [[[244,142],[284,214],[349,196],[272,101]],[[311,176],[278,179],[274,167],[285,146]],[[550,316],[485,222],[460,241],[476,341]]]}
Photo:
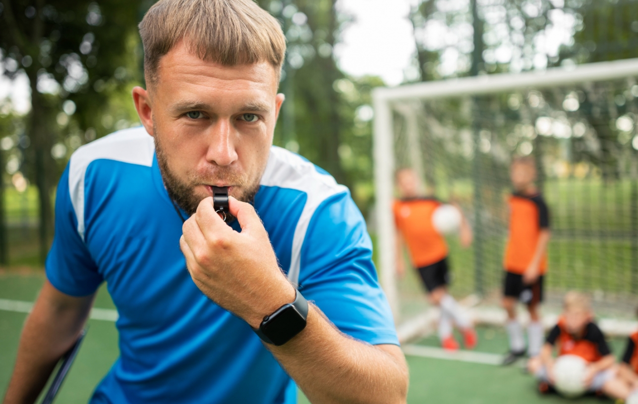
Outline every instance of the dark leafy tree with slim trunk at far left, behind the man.
{"label": "dark leafy tree with slim trunk at far left, behind the man", "polygon": [[[0,3],[0,51],[6,74],[26,75],[31,89],[31,112],[27,117],[31,146],[26,149],[22,166],[26,167],[27,178],[38,187],[42,260],[52,229],[50,195],[60,172],[52,157],[52,146],[64,135],[74,136],[75,147],[93,140],[99,131],[90,128],[100,127],[99,112],[110,94],[121,90],[121,84],[131,76],[139,76],[139,69],[131,65],[138,65],[141,55],[135,40],[140,3]],[[75,115],[72,124],[70,115]],[[80,133],[85,136],[80,137]]]}

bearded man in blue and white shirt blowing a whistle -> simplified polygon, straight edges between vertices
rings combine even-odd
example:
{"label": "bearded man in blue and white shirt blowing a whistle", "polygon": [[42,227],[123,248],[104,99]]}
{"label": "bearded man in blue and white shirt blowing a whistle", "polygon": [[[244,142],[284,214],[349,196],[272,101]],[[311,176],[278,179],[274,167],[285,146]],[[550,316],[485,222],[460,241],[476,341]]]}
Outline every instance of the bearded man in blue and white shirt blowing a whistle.
{"label": "bearded man in blue and white shirt blowing a whistle", "polygon": [[[348,190],[272,147],[285,37],[251,0],[140,24],[143,127],[80,147],[4,403],[33,403],[102,282],[120,356],[91,403],[403,403],[408,375]],[[213,187],[228,187],[230,214]]]}

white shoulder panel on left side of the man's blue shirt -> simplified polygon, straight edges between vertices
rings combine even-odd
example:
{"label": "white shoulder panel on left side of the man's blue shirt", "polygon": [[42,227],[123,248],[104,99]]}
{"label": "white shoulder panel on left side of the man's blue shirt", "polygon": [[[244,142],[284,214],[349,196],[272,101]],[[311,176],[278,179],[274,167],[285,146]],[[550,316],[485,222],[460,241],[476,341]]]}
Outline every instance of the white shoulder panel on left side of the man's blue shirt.
{"label": "white shoulder panel on left side of the man's blue shirt", "polygon": [[99,159],[152,166],[155,145],[144,126],[117,131],[84,145],[71,155],[69,192],[78,219],[78,233],[84,240],[84,177],[91,162]]}

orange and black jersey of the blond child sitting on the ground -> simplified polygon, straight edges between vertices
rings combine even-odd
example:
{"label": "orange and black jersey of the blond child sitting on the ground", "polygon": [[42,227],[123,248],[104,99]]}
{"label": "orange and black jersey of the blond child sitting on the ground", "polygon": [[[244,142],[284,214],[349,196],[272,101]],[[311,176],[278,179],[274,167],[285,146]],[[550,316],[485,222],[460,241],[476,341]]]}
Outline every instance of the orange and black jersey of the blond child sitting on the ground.
{"label": "orange and black jersey of the blond child sitting on the ground", "polygon": [[545,342],[558,348],[558,355],[577,355],[588,362],[600,360],[603,356],[611,354],[605,335],[600,328],[589,322],[581,336],[574,336],[567,332],[563,319],[554,326]]}

